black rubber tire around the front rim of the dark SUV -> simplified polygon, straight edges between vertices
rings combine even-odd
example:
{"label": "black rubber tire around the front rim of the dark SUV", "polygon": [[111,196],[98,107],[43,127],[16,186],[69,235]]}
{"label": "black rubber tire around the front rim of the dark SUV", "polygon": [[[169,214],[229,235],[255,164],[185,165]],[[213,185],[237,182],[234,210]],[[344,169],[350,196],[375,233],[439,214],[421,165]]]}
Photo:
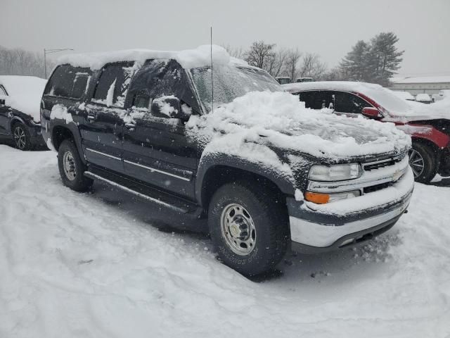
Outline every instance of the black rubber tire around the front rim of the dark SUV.
{"label": "black rubber tire around the front rim of the dark SUV", "polygon": [[[258,184],[255,182],[252,186],[258,187]],[[271,270],[285,255],[289,241],[288,213],[285,205],[283,208],[283,203],[277,204],[274,195],[269,191],[253,187],[247,182],[224,184],[212,196],[208,210],[210,235],[219,259],[245,276],[260,275]],[[250,215],[255,227],[254,245],[245,244],[242,248],[246,250],[252,247],[248,253],[234,252],[229,239],[226,239],[227,235],[221,230],[221,225],[227,224],[227,222],[221,223],[222,213],[226,215],[226,211],[233,205],[242,206]],[[235,214],[236,217],[238,215]],[[232,237],[231,226],[226,228],[229,230],[228,236]],[[242,231],[250,237],[254,236],[252,231]]]}

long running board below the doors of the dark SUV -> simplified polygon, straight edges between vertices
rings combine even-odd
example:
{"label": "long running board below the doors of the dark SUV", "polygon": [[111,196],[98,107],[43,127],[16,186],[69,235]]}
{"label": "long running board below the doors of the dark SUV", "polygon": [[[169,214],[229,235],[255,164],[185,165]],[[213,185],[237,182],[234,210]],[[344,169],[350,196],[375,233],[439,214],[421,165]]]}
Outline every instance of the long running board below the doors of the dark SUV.
{"label": "long running board below the doors of the dark SUV", "polygon": [[194,214],[195,218],[200,218],[203,209],[195,204],[180,199],[176,196],[169,195],[165,192],[160,192],[157,189],[152,189],[147,185],[140,184],[134,180],[130,180],[127,177],[110,173],[107,170],[89,166],[89,171],[85,171],[84,175],[93,180],[100,180],[102,182],[111,184],[114,187],[122,189],[125,192],[139,196],[142,199],[152,201],[160,206],[165,206],[178,213],[190,213]]}

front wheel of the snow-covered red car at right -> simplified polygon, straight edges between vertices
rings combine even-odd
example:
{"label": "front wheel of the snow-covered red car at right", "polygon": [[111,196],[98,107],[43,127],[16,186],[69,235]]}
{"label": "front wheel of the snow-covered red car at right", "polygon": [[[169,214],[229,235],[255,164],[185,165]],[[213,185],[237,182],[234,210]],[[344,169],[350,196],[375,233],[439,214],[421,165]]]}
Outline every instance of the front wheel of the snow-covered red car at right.
{"label": "front wheel of the snow-covered red car at right", "polygon": [[409,165],[413,169],[416,182],[430,183],[437,173],[437,163],[436,153],[431,146],[413,143],[409,151]]}

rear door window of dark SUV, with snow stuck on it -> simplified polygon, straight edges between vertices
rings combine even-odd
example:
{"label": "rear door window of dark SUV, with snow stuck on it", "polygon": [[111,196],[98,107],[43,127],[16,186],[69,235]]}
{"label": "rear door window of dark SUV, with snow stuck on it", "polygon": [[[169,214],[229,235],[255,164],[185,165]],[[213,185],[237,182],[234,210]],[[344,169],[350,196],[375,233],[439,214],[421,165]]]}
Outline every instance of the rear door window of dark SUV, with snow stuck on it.
{"label": "rear door window of dark SUV, with snow stuck on it", "polygon": [[92,101],[123,108],[133,63],[111,63],[103,68]]}

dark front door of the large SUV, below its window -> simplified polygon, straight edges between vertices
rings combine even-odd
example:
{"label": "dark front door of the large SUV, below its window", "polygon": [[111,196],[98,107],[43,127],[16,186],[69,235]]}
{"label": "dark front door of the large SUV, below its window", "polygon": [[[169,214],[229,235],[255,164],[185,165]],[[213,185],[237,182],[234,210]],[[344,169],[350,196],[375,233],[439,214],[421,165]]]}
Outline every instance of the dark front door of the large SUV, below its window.
{"label": "dark front door of the large SUV, below its window", "polygon": [[[131,113],[133,115],[133,113]],[[198,156],[178,119],[145,113],[124,127],[124,170],[127,175],[170,192],[193,198]]]}

